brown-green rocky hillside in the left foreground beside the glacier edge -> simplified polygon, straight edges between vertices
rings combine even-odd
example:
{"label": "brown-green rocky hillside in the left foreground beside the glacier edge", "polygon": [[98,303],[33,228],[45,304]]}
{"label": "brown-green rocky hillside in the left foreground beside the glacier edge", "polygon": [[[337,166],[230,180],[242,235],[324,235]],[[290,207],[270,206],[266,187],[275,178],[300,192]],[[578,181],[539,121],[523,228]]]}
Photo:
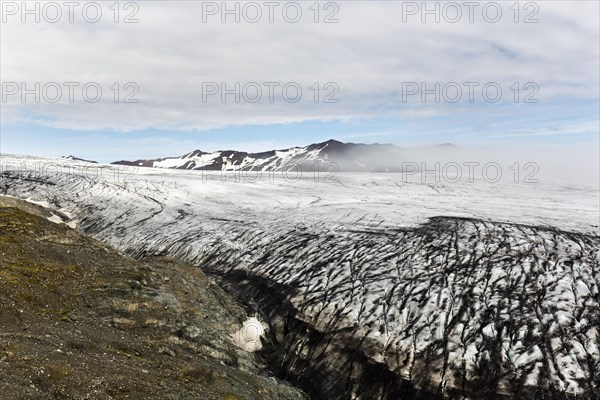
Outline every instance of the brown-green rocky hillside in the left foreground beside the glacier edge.
{"label": "brown-green rocky hillside in the left foreground beside the glacier edge", "polygon": [[306,398],[233,345],[246,312],[199,269],[46,214],[0,200],[0,399]]}

